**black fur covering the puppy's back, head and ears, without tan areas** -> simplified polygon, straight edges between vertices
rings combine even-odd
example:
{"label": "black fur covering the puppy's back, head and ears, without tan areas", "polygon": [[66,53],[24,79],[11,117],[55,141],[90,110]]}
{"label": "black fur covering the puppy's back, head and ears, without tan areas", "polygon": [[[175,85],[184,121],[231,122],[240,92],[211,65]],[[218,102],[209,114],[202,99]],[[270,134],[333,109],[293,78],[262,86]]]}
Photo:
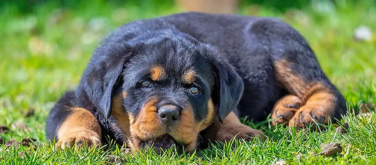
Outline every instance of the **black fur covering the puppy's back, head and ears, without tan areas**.
{"label": "black fur covering the puppy's back, head and ears, without tan areas", "polygon": [[[67,107],[82,107],[99,121],[102,139],[109,136],[122,144],[126,137],[111,117],[112,98],[122,91],[127,93],[124,112],[133,116],[138,116],[147,98],[158,95],[174,98],[174,105],[190,102],[197,121],[208,114],[209,99],[220,121],[230,111],[262,121],[280,98],[294,94],[277,80],[275,63],[279,60],[288,62],[288,71],[295,77],[320,82],[333,91],[331,117],[345,112],[343,96],[320,69],[306,40],[288,24],[274,18],[180,13],[125,24],[104,39],[77,89],[65,93],[51,110],[47,136],[57,136],[70,113]],[[158,84],[155,90],[137,86],[156,63],[169,75],[195,68],[202,78],[196,84],[201,95],[186,95],[189,86],[173,77],[165,77],[168,83]]]}

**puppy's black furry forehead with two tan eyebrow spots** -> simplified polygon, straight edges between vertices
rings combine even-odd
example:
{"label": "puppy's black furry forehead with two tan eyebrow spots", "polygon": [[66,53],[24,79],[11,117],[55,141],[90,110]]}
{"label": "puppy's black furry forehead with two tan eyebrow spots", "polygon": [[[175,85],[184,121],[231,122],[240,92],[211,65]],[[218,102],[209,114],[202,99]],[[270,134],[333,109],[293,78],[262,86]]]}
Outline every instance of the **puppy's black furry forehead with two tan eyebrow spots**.
{"label": "puppy's black furry forehead with two tan eyebrow spots", "polygon": [[138,52],[125,64],[130,80],[149,77],[154,81],[170,80],[181,84],[212,84],[211,65],[192,49],[170,48]]}

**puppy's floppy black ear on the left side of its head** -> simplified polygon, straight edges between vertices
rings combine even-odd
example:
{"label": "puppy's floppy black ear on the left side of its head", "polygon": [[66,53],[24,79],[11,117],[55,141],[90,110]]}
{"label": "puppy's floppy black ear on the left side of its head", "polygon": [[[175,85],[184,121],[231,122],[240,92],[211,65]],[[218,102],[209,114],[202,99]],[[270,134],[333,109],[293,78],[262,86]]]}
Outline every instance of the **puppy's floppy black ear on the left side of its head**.
{"label": "puppy's floppy black ear on the left side of its head", "polygon": [[127,43],[100,46],[81,80],[90,101],[107,118],[111,115],[112,92],[121,79],[124,63],[133,54],[130,47]]}

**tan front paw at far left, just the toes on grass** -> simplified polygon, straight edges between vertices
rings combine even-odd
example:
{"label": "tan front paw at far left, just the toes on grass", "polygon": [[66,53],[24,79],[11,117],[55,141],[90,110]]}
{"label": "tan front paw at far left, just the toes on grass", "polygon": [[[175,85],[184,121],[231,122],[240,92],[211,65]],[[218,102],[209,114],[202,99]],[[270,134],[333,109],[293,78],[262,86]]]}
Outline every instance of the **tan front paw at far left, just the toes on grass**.
{"label": "tan front paw at far left, just the toes on grass", "polygon": [[94,146],[99,147],[100,136],[92,130],[80,130],[73,133],[68,133],[63,135],[62,138],[56,142],[56,148],[71,148],[73,146],[83,147],[83,146]]}

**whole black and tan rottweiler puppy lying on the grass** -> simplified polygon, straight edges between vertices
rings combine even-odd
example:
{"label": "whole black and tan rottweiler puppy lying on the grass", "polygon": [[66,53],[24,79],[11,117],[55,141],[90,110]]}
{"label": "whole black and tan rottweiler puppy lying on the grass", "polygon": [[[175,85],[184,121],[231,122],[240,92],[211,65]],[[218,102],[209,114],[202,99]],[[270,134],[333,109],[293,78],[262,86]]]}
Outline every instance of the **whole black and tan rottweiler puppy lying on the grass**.
{"label": "whole black and tan rottweiler puppy lying on the grass", "polygon": [[47,136],[57,147],[112,139],[132,151],[193,151],[208,141],[262,138],[238,117],[262,121],[271,113],[273,125],[304,129],[345,112],[343,96],[288,24],[179,13],[106,37],[79,86],[50,111]]}

